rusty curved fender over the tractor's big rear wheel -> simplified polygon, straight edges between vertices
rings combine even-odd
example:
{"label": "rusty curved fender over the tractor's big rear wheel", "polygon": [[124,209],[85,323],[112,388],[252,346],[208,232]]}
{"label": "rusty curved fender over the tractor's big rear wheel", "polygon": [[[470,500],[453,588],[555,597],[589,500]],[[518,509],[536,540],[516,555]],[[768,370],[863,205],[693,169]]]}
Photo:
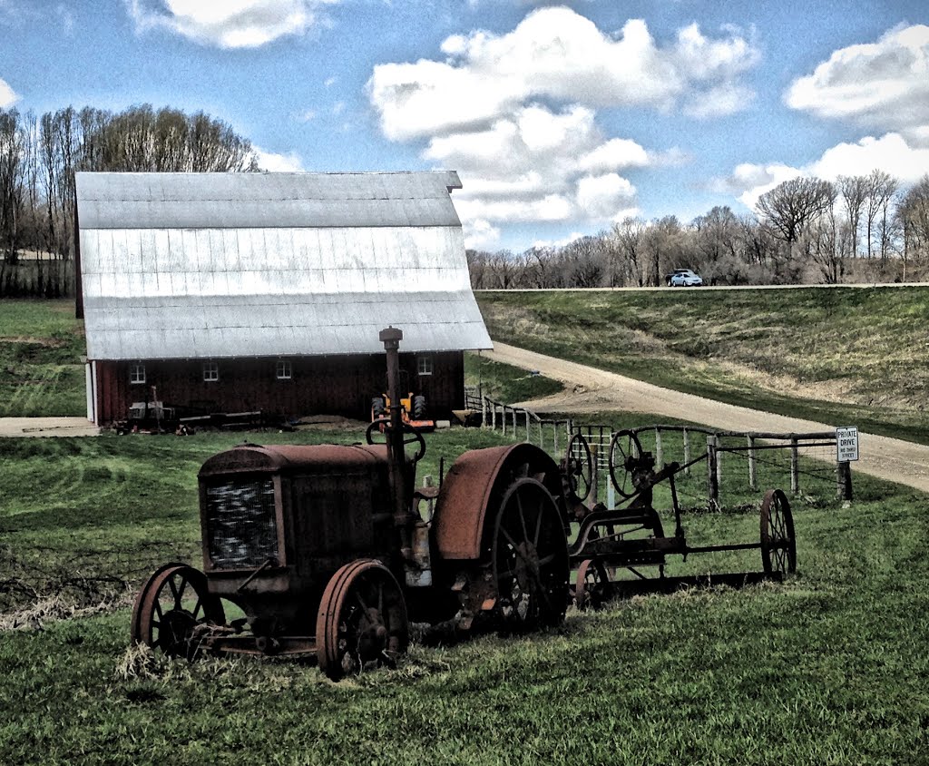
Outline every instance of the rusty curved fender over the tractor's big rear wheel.
{"label": "rusty curved fender over the tractor's big rear wheel", "polygon": [[451,465],[433,515],[434,549],[443,560],[481,558],[487,526],[506,488],[529,476],[542,482],[564,511],[561,474],[555,460],[534,444],[471,450]]}

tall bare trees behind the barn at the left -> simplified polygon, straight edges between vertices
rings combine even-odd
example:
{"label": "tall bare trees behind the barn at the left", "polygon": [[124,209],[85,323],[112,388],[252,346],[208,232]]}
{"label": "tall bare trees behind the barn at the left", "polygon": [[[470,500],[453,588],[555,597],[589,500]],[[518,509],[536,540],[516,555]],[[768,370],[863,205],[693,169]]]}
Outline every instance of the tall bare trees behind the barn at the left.
{"label": "tall bare trees behind the barn at the left", "polygon": [[77,171],[257,169],[251,143],[203,112],[0,109],[0,297],[73,294]]}

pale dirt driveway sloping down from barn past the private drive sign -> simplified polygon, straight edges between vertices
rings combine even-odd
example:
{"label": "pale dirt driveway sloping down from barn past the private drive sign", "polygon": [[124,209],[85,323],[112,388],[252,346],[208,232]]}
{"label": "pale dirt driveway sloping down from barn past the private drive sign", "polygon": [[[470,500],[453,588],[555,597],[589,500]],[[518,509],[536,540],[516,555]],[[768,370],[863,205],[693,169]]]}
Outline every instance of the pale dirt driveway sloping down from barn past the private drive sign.
{"label": "pale dirt driveway sloping down from barn past the private drive sign", "polygon": [[[535,412],[645,412],[679,417],[720,430],[804,433],[833,428],[812,420],[772,415],[734,404],[713,402],[693,394],[661,389],[631,377],[517,349],[497,341],[494,341],[493,346],[493,351],[483,352],[488,358],[526,370],[538,370],[544,376],[565,384],[567,391],[532,402],[518,403]],[[868,433],[860,434],[858,443],[860,459],[852,467],[853,471],[860,470],[880,479],[929,492],[929,446]]]}

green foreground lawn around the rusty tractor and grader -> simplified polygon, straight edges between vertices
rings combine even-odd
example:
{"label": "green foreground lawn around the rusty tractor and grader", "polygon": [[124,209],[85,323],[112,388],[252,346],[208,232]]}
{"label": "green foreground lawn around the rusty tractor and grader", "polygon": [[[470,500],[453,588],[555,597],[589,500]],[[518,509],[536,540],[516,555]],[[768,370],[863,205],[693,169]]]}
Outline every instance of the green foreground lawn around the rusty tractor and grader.
{"label": "green foreground lawn around the rusty tractor and grader", "polygon": [[[474,429],[427,438],[421,476],[440,455],[499,442]],[[196,562],[196,470],[241,439],[0,442],[4,611],[24,605],[9,601],[11,581],[39,588],[48,572],[55,586],[74,561],[78,575],[133,585],[156,563]],[[851,508],[794,503],[799,572],[783,585],[648,596],[527,637],[415,645],[399,670],[338,685],[300,662],[130,661],[128,607],[0,632],[0,762],[923,764],[929,498],[858,475],[856,491]],[[696,542],[758,534],[744,508],[686,523]],[[759,565],[757,551],[733,556],[674,571]]]}

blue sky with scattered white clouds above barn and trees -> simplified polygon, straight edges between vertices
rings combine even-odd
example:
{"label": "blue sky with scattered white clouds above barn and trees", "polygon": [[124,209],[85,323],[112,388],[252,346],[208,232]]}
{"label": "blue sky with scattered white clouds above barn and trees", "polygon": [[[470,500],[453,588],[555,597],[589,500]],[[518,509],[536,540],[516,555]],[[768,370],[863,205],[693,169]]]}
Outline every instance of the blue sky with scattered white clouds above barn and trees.
{"label": "blue sky with scattered white clouds above barn and trees", "polygon": [[0,106],[203,110],[269,170],[457,170],[467,244],[929,172],[929,4],[0,0]]}

